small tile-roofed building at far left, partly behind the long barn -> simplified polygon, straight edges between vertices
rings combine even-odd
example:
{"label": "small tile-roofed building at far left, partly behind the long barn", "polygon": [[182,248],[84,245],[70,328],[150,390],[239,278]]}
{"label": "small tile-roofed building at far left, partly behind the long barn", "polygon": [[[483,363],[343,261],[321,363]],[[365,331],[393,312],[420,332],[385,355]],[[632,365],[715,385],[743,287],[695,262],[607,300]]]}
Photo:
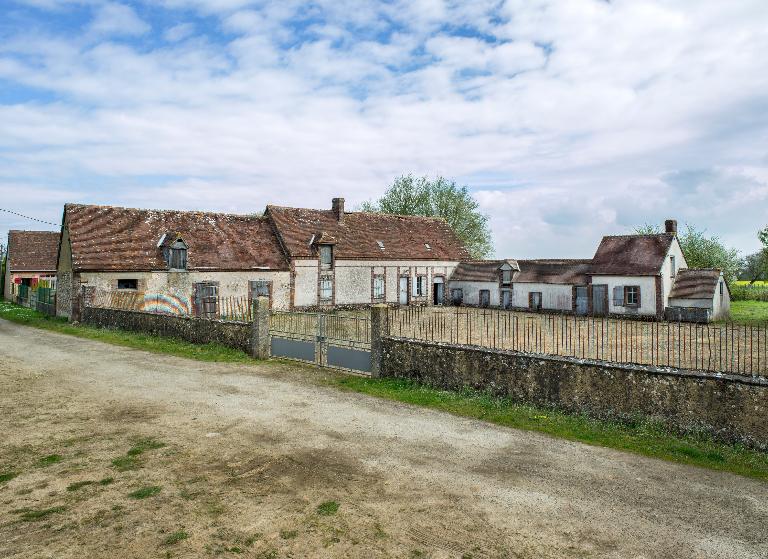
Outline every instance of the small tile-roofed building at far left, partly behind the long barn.
{"label": "small tile-roofed building at far left, partly behind the long barn", "polygon": [[10,231],[3,293],[8,300],[29,304],[30,290],[56,283],[56,252],[59,233]]}

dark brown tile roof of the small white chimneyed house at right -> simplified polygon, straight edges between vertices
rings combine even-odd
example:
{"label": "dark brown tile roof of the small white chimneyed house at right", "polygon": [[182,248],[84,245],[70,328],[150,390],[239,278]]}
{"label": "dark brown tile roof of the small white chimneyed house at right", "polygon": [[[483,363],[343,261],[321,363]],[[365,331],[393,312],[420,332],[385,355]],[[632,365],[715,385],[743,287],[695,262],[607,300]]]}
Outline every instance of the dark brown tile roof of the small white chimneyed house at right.
{"label": "dark brown tile roof of the small white chimneyed house at right", "polygon": [[603,237],[590,273],[614,276],[655,276],[667,256],[674,234]]}

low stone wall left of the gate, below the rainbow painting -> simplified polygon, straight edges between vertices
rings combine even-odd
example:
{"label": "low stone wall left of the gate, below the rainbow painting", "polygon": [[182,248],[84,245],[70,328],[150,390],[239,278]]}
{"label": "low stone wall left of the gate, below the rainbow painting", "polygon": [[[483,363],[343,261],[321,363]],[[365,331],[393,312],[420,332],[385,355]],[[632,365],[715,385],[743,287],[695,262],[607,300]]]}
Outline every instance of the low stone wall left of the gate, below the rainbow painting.
{"label": "low stone wall left of the gate, below the rainbow painting", "polygon": [[216,342],[246,352],[251,351],[252,326],[248,323],[87,306],[83,309],[82,322],[100,328],[145,332],[195,344]]}

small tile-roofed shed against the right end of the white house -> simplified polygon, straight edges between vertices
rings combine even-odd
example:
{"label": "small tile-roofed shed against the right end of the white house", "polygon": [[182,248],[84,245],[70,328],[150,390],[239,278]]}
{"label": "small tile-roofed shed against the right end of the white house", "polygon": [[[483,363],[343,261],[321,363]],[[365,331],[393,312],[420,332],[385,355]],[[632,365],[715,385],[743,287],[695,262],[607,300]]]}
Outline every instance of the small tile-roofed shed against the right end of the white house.
{"label": "small tile-roofed shed against the right end of the white house", "polygon": [[722,270],[685,269],[675,277],[667,318],[696,322],[728,318],[731,294]]}

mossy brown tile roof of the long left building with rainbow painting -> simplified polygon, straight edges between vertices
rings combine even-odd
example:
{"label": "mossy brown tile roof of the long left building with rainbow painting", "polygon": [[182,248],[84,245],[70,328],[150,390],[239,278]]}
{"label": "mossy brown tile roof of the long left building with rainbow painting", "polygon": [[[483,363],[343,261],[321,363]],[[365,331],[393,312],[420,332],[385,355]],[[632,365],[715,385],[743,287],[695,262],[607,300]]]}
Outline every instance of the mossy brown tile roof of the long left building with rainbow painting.
{"label": "mossy brown tile roof of the long left building with rainbow painting", "polygon": [[189,247],[190,270],[287,270],[277,238],[261,217],[67,204],[64,219],[75,270],[166,270],[164,234]]}

